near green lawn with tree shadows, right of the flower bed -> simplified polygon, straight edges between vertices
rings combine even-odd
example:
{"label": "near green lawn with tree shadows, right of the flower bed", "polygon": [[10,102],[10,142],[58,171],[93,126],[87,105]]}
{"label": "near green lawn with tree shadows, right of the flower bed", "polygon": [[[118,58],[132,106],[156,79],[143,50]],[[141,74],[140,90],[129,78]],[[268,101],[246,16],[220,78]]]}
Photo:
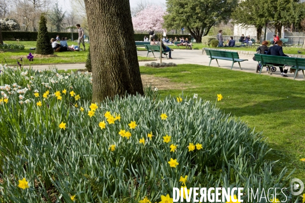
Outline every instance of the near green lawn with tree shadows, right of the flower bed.
{"label": "near green lawn with tree shadows, right of the flower bed", "polygon": [[[169,78],[180,83],[177,87],[187,87],[183,90],[184,98],[197,93],[214,103],[217,94],[222,94],[224,98],[217,102],[217,107],[240,117],[267,138],[273,149],[267,159],[280,160],[275,171],[285,166],[290,171],[296,168],[294,176],[305,181],[305,162],[299,160],[305,158],[305,81],[193,64],[163,69],[141,66],[140,71],[142,75]],[[162,96],[182,94],[181,89],[159,91]]]}

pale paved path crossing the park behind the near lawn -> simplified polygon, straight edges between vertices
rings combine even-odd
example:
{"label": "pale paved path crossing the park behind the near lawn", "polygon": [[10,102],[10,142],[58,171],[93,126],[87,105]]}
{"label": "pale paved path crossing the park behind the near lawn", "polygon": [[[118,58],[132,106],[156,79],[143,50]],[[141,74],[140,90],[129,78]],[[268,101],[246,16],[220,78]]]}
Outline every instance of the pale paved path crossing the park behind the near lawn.
{"label": "pale paved path crossing the park behind the near lawn", "polygon": [[[138,56],[146,56],[146,51],[138,51]],[[155,54],[156,55],[156,54]],[[153,57],[152,53],[149,53],[148,56]],[[157,55],[156,55],[157,56]],[[198,65],[208,65],[209,58],[207,55],[202,55],[202,50],[179,50],[175,49],[172,51],[172,58],[173,59],[166,59],[162,58],[162,62],[174,62],[176,64],[198,64]],[[234,63],[233,65],[233,71],[243,71],[248,73],[256,73],[256,65],[257,62],[254,61],[252,58],[247,57],[241,57],[243,59],[248,59],[248,61],[240,62],[242,70],[239,69],[238,63]],[[142,66],[145,63],[150,63],[152,61],[140,61],[139,65]],[[155,62],[160,62],[160,60],[156,60]],[[231,69],[231,61],[226,60],[219,60],[219,65],[223,69]],[[50,65],[55,66],[55,65]],[[211,66],[217,66],[216,60],[212,60]],[[49,65],[33,65],[34,69],[48,69]],[[85,63],[71,63],[71,64],[56,64],[56,67],[58,70],[65,70],[65,69],[85,69]],[[266,72],[266,69],[264,67],[262,71],[262,75],[269,75],[268,72]],[[293,79],[293,74],[290,74],[288,72],[287,74],[289,77],[288,79]],[[272,73],[270,75],[272,77],[281,77],[279,67],[277,67],[277,72]],[[304,80],[303,75],[301,72],[299,72],[298,78],[296,80]]]}

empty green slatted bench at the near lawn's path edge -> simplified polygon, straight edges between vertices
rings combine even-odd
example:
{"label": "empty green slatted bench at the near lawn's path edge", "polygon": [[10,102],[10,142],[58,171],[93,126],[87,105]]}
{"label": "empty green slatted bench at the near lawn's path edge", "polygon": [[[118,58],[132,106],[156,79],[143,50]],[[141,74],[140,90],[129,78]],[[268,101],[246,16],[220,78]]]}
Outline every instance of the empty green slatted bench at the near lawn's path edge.
{"label": "empty green slatted bench at the near lawn's path edge", "polygon": [[[218,64],[218,59],[230,60],[230,61],[232,61],[232,65],[231,65],[231,70],[232,70],[235,62],[238,62],[239,67],[240,67],[240,62],[248,60],[248,59],[240,59],[237,52],[218,51],[218,50],[210,50],[210,49],[204,49],[204,50],[206,52],[206,55],[208,55],[210,58],[210,62],[208,64],[208,66],[211,64],[211,61],[213,59],[216,59],[217,64]],[[218,64],[218,66],[220,66],[220,65]],[[241,67],[240,67],[240,69],[241,69]]]}

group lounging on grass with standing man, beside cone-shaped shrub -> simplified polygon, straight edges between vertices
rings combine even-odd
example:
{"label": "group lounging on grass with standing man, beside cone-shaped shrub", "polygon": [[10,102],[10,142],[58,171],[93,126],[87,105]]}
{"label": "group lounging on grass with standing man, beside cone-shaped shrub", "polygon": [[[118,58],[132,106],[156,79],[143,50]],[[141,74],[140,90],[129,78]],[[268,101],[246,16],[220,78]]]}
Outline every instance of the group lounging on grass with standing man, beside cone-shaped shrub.
{"label": "group lounging on grass with standing man, beside cone-shaped shrub", "polygon": [[52,44],[52,48],[54,51],[57,52],[63,52],[63,51],[79,51],[80,48],[80,43],[82,43],[83,47],[84,47],[84,51],[86,50],[85,48],[85,42],[84,42],[84,30],[83,28],[80,27],[80,24],[76,24],[76,27],[78,29],[78,46],[68,46],[67,43],[67,37],[63,37],[62,40],[59,39],[59,35],[56,36],[56,39],[52,38],[51,39],[51,44]]}

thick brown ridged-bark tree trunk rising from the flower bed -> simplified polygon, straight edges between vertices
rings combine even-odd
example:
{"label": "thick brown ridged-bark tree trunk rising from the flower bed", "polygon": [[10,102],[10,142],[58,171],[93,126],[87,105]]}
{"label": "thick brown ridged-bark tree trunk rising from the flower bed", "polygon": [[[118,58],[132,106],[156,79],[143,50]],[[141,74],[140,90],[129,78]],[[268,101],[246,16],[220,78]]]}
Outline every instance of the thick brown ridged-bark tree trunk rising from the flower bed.
{"label": "thick brown ridged-bark tree trunk rising from the flower bed", "polygon": [[90,30],[93,102],[144,94],[128,0],[85,0]]}

